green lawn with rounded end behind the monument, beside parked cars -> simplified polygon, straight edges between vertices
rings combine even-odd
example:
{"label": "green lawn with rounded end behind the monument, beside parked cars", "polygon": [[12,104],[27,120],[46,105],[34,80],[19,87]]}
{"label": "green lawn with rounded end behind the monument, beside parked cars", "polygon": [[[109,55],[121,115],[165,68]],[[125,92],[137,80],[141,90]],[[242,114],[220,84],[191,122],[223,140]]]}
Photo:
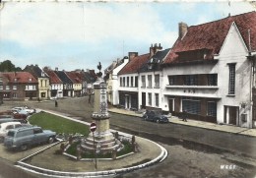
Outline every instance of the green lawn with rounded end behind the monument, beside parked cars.
{"label": "green lawn with rounded end behind the monument, beside parked cars", "polygon": [[42,129],[52,130],[56,133],[79,133],[84,136],[88,136],[90,133],[89,126],[86,126],[85,124],[71,121],[47,112],[33,114],[30,117],[30,123],[32,125],[40,126]]}

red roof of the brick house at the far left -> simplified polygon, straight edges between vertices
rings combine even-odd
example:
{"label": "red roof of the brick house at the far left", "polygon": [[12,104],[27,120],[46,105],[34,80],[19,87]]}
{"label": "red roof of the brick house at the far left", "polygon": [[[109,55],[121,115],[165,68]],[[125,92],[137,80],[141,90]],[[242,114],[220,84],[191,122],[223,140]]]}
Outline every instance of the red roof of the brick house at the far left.
{"label": "red roof of the brick house at the far left", "polygon": [[37,80],[29,72],[7,72],[2,73],[10,83],[37,84]]}

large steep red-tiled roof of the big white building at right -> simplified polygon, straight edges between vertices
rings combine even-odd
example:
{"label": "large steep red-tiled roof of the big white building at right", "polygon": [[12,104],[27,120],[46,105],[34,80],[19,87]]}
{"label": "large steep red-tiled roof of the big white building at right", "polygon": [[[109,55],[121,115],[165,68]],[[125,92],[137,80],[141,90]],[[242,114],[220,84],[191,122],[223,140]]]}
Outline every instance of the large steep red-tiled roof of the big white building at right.
{"label": "large steep red-tiled roof of the big white building at right", "polygon": [[[215,54],[220,53],[232,23],[236,25],[247,48],[251,48],[253,51],[256,50],[256,12],[250,12],[189,27],[183,38],[177,38],[164,63],[176,62],[175,60],[180,52],[205,49],[209,52],[206,59],[213,59]],[[250,37],[248,30],[250,30]]]}

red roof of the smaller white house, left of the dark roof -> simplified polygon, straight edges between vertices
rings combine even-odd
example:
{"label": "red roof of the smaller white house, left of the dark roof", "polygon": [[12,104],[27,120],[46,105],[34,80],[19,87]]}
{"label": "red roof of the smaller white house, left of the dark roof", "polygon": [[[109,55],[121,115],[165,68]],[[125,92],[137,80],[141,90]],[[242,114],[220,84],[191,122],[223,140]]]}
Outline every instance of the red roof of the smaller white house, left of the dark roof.
{"label": "red roof of the smaller white house, left of the dark roof", "polygon": [[149,60],[149,58],[150,53],[134,57],[123,67],[123,69],[121,69],[118,75],[138,73],[138,70]]}

